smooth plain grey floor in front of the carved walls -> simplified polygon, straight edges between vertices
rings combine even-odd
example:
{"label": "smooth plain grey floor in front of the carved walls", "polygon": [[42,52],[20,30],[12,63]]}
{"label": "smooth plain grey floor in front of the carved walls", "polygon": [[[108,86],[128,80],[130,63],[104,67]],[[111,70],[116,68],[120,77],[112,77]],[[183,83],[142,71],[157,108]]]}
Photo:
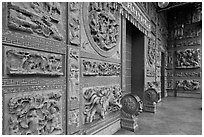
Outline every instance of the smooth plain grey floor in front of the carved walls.
{"label": "smooth plain grey floor in front of the carved walls", "polygon": [[201,135],[202,100],[167,97],[157,104],[156,113],[141,113],[138,130],[121,129],[115,135]]}

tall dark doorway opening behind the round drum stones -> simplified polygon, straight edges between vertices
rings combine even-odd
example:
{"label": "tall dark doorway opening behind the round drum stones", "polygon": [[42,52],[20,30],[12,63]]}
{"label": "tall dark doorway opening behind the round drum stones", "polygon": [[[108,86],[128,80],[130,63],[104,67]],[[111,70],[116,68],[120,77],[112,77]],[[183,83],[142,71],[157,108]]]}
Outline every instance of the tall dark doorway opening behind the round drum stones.
{"label": "tall dark doorway opening behind the round drum stones", "polygon": [[131,93],[136,94],[143,100],[144,92],[144,66],[145,66],[145,37],[144,34],[137,29],[132,23],[126,23],[126,41],[130,48],[130,56],[126,56],[129,61],[131,76],[129,77],[131,84]]}

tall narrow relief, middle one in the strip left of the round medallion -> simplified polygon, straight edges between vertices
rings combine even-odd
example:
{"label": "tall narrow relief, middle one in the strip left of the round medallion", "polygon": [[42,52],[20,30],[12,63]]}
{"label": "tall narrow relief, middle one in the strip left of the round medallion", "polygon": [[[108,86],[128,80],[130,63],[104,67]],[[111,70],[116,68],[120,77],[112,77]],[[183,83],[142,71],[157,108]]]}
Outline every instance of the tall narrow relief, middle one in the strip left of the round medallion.
{"label": "tall narrow relief, middle one in the strip left of the round medallion", "polygon": [[79,50],[69,49],[69,105],[70,109],[79,107],[79,77],[80,77],[80,60]]}

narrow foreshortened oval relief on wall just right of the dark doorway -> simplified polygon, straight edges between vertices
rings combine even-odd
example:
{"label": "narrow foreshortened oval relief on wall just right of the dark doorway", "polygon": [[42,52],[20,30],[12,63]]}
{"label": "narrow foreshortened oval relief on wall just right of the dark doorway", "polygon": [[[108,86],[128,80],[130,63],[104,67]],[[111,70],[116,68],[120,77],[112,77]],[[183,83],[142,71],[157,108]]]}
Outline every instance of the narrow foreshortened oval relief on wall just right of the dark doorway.
{"label": "narrow foreshortened oval relief on wall just right of the dark doorway", "polygon": [[154,66],[156,61],[155,42],[150,38],[147,48],[148,64],[149,66]]}

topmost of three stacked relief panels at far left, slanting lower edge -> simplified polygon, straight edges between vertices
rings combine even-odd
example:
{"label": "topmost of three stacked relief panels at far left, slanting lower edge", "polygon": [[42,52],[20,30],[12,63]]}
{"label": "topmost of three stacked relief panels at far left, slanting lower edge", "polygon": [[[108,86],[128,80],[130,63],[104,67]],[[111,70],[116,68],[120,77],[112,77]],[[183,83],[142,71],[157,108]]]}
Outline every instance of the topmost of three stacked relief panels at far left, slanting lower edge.
{"label": "topmost of three stacked relief panels at far left, slanting lower edge", "polygon": [[63,41],[62,7],[57,2],[10,2],[8,27]]}

